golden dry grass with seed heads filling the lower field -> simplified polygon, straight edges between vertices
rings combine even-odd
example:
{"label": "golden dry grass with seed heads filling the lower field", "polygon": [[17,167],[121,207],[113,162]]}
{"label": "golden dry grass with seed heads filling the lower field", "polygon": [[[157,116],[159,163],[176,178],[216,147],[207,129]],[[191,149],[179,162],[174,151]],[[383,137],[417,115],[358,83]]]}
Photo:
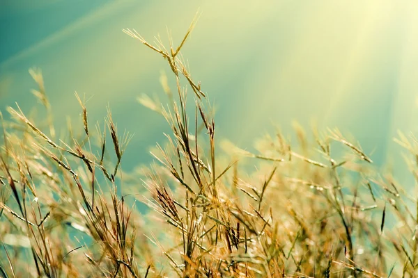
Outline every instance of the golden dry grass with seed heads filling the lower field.
{"label": "golden dry grass with seed heads filling the lower field", "polygon": [[[42,74],[31,71],[49,116],[38,125],[17,106],[2,121],[0,276],[416,277],[417,198],[338,130],[311,142],[297,128],[299,145],[266,136],[257,154],[215,147],[206,94],[180,52],[192,28],[169,49],[124,30],[167,60],[177,84],[171,92],[162,76],[168,106],[139,99],[171,126],[142,179],[120,169],[129,134],[110,110],[94,132],[77,94],[84,133],[57,139]],[[418,140],[398,143],[418,178]]]}

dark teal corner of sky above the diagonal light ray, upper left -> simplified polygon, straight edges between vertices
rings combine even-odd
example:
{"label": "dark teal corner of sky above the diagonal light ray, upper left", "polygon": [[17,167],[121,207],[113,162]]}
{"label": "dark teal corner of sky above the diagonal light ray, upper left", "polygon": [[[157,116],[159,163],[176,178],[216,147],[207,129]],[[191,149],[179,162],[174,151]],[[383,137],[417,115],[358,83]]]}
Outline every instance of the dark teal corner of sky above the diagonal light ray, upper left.
{"label": "dark teal corner of sky above the diagonal light ray, upper left", "polygon": [[109,1],[1,1],[0,63]]}

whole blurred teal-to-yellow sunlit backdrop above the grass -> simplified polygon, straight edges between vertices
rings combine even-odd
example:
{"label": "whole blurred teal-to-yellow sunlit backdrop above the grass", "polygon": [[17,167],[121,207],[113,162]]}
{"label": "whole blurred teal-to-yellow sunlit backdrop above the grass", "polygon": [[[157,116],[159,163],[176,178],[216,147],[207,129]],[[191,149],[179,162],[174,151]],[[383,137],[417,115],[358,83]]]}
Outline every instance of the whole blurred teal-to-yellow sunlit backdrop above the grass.
{"label": "whole blurred teal-to-yellow sunlit backdrop above the grass", "polygon": [[416,1],[2,0],[0,110],[17,101],[30,111],[28,70],[40,67],[58,127],[67,117],[81,126],[77,91],[91,121],[109,104],[118,129],[134,133],[125,170],[150,161],[167,124],[136,99],[162,96],[169,69],[122,28],[165,42],[168,29],[178,44],[198,10],[183,56],[216,108],[219,138],[251,148],[274,125],[316,122],[353,134],[379,165],[401,161],[396,131],[417,131]]}

